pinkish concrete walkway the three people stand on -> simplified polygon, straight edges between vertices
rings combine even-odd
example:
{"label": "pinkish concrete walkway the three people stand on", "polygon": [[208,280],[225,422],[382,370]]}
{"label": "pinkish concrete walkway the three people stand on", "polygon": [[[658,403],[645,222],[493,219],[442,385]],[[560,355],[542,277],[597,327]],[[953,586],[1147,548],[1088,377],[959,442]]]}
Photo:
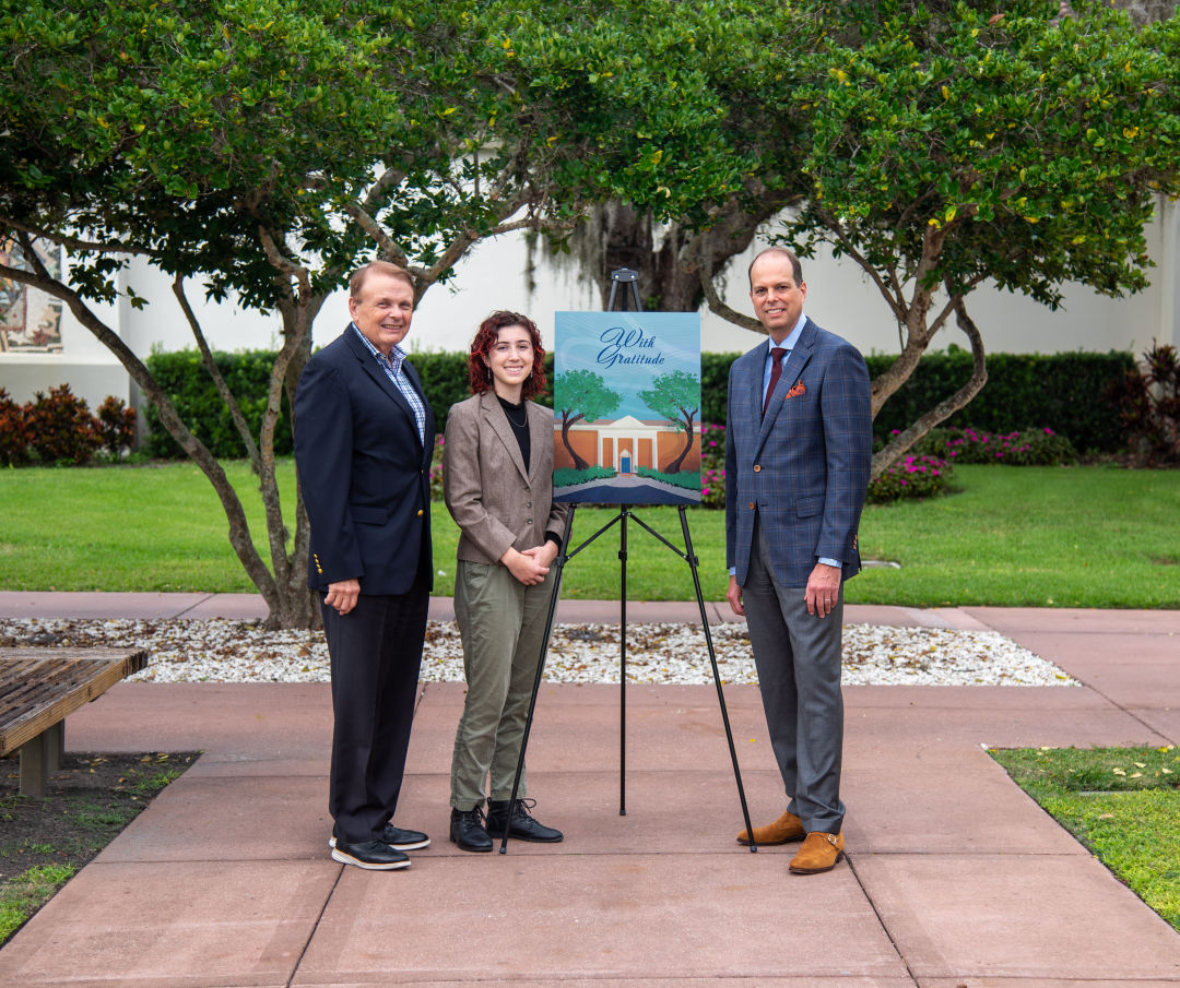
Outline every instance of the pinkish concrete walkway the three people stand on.
{"label": "pinkish concrete walkway the three people stand on", "polygon": [[[45,617],[237,617],[249,604],[0,594],[0,613]],[[568,602],[560,618],[617,620],[617,606]],[[632,604],[629,620],[696,610]],[[328,857],[326,685],[122,684],[70,719],[70,749],[205,753],[0,950],[0,984],[1180,984],[1180,935],[983,750],[1180,743],[1180,612],[847,612],[994,628],[1084,686],[846,689],[848,857],[798,877],[791,847],[734,843],[712,686],[628,689],[621,816],[618,687],[546,685],[530,788],[566,841],[506,856],[446,839],[464,685],[425,686],[398,822],[434,843],[380,874]],[[772,819],[781,783],[756,690],[726,697],[750,812]]]}

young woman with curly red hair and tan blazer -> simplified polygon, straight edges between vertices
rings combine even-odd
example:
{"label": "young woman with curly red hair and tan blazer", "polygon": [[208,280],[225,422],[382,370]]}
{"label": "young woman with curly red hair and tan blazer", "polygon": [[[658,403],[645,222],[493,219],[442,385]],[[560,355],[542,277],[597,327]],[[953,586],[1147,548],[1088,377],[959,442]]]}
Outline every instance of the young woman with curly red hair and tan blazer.
{"label": "young woman with curly red hair and tan blazer", "polygon": [[530,816],[524,772],[509,805],[568,511],[553,503],[553,413],[530,400],[545,388],[544,354],[527,316],[493,312],[471,344],[472,396],[447,419],[442,492],[460,528],[454,614],[467,677],[451,839],[465,851],[490,851],[505,828],[520,841],[562,839]]}

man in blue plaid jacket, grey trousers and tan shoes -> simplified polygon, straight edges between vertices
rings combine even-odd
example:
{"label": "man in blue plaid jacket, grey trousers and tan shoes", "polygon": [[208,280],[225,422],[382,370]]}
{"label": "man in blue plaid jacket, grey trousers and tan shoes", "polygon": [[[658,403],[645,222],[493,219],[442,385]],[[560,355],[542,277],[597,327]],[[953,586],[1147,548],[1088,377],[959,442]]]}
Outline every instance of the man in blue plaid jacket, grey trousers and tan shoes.
{"label": "man in blue plaid jacket, grey trousers and tan shoes", "polygon": [[[864,357],[804,315],[799,258],[769,248],[749,268],[769,334],[729,370],[726,556],[729,606],[745,615],[786,812],[758,844],[802,839],[795,874],[844,854],[840,760],[843,581],[860,569],[857,527],[872,459]],[[743,830],[738,839],[749,843]]]}

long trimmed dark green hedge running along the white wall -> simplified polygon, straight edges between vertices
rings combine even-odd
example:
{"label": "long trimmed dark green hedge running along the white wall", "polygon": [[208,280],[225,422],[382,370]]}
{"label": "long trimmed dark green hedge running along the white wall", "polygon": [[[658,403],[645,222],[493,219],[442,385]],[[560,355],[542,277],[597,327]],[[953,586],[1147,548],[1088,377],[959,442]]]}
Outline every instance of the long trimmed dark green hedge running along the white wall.
{"label": "long trimmed dark green hedge running along the white wall", "polygon": [[[726,386],[729,365],[739,354],[701,355],[702,422],[726,422]],[[216,354],[215,360],[234,394],[248,395],[243,413],[257,434],[266,408],[267,384],[274,355],[263,350]],[[868,373],[880,374],[893,357],[867,358]],[[438,429],[446,428],[451,406],[467,397],[465,354],[415,354],[414,367],[434,409]],[[153,354],[148,365],[172,396],[185,422],[196,423],[196,435],[218,456],[242,456],[244,449],[234,423],[195,350]],[[1050,427],[1080,450],[1112,452],[1126,446],[1115,409],[1103,397],[1107,387],[1135,365],[1129,353],[1069,353],[1048,356],[992,354],[988,357],[988,384],[968,408],[951,416],[948,426],[1011,430]],[[545,357],[552,387],[552,355]],[[952,395],[971,376],[971,355],[965,350],[927,354],[910,380],[881,409],[874,423],[878,435],[904,429],[918,414]],[[551,406],[552,395],[540,399]],[[153,456],[179,456],[179,448],[159,424],[155,408],[148,409],[148,450]],[[284,415],[275,430],[275,450],[291,449],[290,426]]]}

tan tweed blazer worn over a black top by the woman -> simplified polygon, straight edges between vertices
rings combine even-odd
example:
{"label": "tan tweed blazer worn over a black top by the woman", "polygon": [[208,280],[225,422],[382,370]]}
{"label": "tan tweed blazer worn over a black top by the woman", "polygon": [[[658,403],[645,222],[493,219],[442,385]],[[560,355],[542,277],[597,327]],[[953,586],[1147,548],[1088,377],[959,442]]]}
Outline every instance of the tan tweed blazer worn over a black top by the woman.
{"label": "tan tweed blazer worn over a black top by the woman", "polygon": [[494,393],[451,406],[442,447],[442,496],[461,532],[455,555],[499,562],[512,546],[522,552],[562,534],[568,505],[553,503],[553,413],[526,402],[529,470]]}

